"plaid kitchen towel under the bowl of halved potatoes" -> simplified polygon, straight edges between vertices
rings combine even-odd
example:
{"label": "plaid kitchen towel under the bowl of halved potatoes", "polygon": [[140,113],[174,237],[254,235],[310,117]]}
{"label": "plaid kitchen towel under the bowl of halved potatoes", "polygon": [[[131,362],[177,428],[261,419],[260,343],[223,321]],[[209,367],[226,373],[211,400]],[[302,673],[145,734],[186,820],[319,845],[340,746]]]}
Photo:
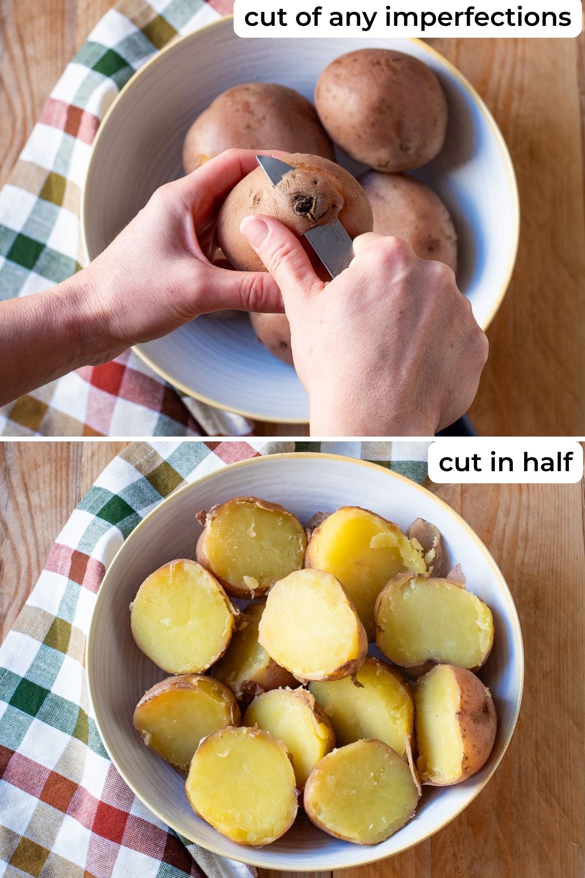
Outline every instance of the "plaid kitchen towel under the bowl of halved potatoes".
{"label": "plaid kitchen towel under the bowl of halved potatoes", "polygon": [[[424,481],[428,443],[133,443],[103,471],[49,553],[0,648],[0,875],[253,878],[168,829],[111,764],[83,672],[106,567],[132,529],[185,482],[248,457],[329,451]],[[190,854],[190,856],[189,856]]]}

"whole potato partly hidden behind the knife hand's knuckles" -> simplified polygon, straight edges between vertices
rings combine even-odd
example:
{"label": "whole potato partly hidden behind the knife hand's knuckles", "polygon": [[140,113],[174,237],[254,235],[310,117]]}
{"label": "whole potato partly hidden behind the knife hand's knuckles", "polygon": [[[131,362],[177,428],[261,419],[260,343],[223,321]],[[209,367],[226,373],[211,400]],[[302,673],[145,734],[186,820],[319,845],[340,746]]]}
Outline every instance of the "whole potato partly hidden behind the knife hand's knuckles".
{"label": "whole potato partly hidden behind the knife hand's knuckles", "polygon": [[457,233],[438,195],[405,174],[360,176],[374,212],[374,231],[402,238],[421,259],[457,270]]}

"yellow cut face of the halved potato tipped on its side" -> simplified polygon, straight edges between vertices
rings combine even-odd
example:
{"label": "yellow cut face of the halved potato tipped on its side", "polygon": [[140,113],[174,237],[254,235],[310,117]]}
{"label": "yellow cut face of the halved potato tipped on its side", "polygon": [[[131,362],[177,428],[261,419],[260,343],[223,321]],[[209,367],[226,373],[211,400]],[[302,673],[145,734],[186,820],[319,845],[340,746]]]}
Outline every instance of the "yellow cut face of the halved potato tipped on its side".
{"label": "yellow cut face of the halved potato tipped on its side", "polygon": [[417,705],[417,771],[423,780],[456,781],[463,763],[460,687],[451,669],[438,665],[420,681]]}

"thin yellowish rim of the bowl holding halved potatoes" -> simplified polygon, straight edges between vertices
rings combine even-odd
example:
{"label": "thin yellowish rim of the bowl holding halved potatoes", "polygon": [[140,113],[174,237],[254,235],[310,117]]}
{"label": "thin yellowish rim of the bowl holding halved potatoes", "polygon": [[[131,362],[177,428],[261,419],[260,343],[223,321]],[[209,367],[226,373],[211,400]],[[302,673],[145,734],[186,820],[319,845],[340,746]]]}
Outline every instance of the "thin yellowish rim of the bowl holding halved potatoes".
{"label": "thin yellowish rim of the bowl holding halved potatoes", "polygon": [[[391,853],[391,854],[376,855],[376,853],[379,852],[379,846],[377,846],[377,845],[374,845],[374,846],[355,846],[356,848],[362,847],[362,858],[360,858],[359,860],[356,860],[355,862],[353,862],[351,864],[347,864],[346,868],[365,866],[369,863],[374,863],[374,862],[377,862],[379,860],[385,860],[389,856],[395,856],[397,853],[403,853],[404,851],[408,851],[408,850],[410,850],[410,848],[421,844],[427,838],[432,838],[433,835],[435,835],[440,830],[444,829],[444,827],[447,824],[451,823],[451,821],[454,820],[455,817],[459,817],[460,813],[462,811],[464,811],[468,807],[468,805],[471,804],[471,802],[474,801],[476,796],[482,792],[482,789],[488,784],[489,780],[496,773],[496,768],[500,765],[500,762],[502,761],[503,756],[504,756],[505,752],[507,751],[508,746],[510,745],[510,740],[511,740],[512,735],[514,733],[514,730],[516,728],[517,718],[518,718],[518,714],[520,712],[520,706],[522,703],[522,696],[524,693],[524,641],[523,641],[523,637],[522,637],[522,630],[520,628],[520,620],[519,620],[518,615],[517,615],[517,608],[516,608],[516,605],[514,603],[514,599],[512,598],[512,595],[510,593],[510,588],[508,587],[508,584],[503,577],[503,573],[501,572],[499,566],[496,564],[496,559],[493,557],[493,555],[491,554],[491,552],[489,551],[487,546],[482,542],[480,537],[477,536],[474,529],[469,524],[467,524],[467,522],[463,518],[461,518],[461,516],[457,512],[455,512],[455,510],[452,507],[450,507],[448,505],[448,503],[445,502],[445,500],[442,500],[440,497],[437,497],[436,494],[433,494],[432,492],[428,491],[424,486],[419,485],[417,482],[413,481],[412,479],[408,479],[406,476],[403,476],[399,472],[396,472],[394,470],[389,470],[385,466],[372,463],[371,461],[362,460],[362,459],[357,458],[357,457],[346,457],[344,455],[320,453],[318,451],[301,451],[301,452],[288,451],[288,452],[283,452],[282,454],[268,454],[268,455],[260,455],[260,457],[249,457],[249,458],[246,458],[245,460],[239,460],[233,464],[226,464],[225,467],[223,467],[221,470],[214,470],[214,471],[208,472],[205,475],[203,475],[200,479],[195,479],[195,481],[188,482],[186,485],[183,485],[183,486],[177,488],[175,491],[168,494],[167,497],[163,498],[160,501],[160,503],[157,503],[157,505],[155,507],[153,507],[153,509],[151,509],[151,511],[147,515],[145,515],[145,517],[142,519],[142,521],[137,524],[137,526],[132,530],[132,533],[126,537],[125,541],[122,543],[122,545],[120,546],[120,548],[118,549],[118,551],[116,552],[114,557],[111,559],[111,562],[108,565],[108,568],[105,572],[105,575],[104,575],[103,580],[102,580],[102,584],[99,587],[99,590],[98,590],[97,595],[96,595],[96,603],[94,604],[94,608],[92,611],[91,622],[89,623],[88,637],[87,637],[87,641],[86,641],[86,645],[85,645],[85,675],[86,675],[86,681],[87,681],[87,685],[88,685],[89,703],[90,703],[91,709],[93,711],[93,716],[94,716],[95,722],[96,722],[96,728],[97,728],[98,734],[100,736],[100,739],[103,743],[103,747],[105,748],[106,752],[108,753],[113,765],[116,767],[118,774],[120,774],[120,776],[125,781],[125,783],[132,789],[132,792],[134,793],[134,795],[136,795],[139,798],[140,802],[142,802],[144,805],[146,805],[146,808],[148,810],[150,810],[155,815],[155,817],[158,817],[164,825],[169,826],[171,829],[173,829],[175,832],[177,832],[180,836],[182,836],[182,838],[187,838],[190,843],[195,844],[195,845],[199,845],[199,846],[203,847],[205,850],[208,850],[211,853],[215,853],[218,856],[222,856],[222,857],[227,856],[227,857],[229,857],[229,859],[238,860],[239,862],[246,863],[247,865],[250,865],[250,866],[268,867],[268,868],[274,867],[274,864],[267,864],[266,860],[263,859],[262,854],[261,854],[261,850],[262,850],[261,848],[260,849],[255,848],[255,847],[246,848],[246,847],[242,846],[242,853],[241,854],[240,853],[226,854],[218,846],[203,845],[199,839],[192,838],[187,833],[185,833],[184,829],[180,828],[177,824],[174,823],[174,821],[169,821],[168,817],[166,817],[165,814],[162,813],[161,810],[158,810],[156,807],[153,807],[153,804],[147,800],[146,795],[143,794],[139,790],[139,788],[137,788],[137,786],[133,783],[132,779],[129,778],[125,774],[124,769],[118,764],[118,759],[111,748],[111,745],[110,745],[110,742],[107,738],[107,735],[105,735],[105,733],[104,733],[103,723],[101,722],[99,713],[96,710],[96,702],[94,701],[94,697],[93,697],[93,687],[92,687],[92,667],[93,667],[93,665],[92,665],[91,655],[92,655],[92,651],[94,649],[94,639],[96,637],[95,628],[94,628],[94,620],[96,618],[97,606],[98,606],[100,601],[104,600],[103,595],[106,593],[108,581],[109,581],[109,579],[111,579],[111,574],[112,574],[112,571],[116,565],[118,557],[121,555],[121,553],[123,551],[125,551],[126,547],[128,546],[128,544],[132,540],[132,536],[134,536],[137,533],[139,528],[141,528],[145,524],[145,522],[150,521],[154,517],[154,515],[158,515],[161,512],[161,509],[163,507],[165,507],[166,505],[168,505],[168,503],[170,503],[171,501],[175,500],[175,497],[178,496],[180,493],[184,493],[188,490],[195,490],[196,486],[201,485],[204,481],[208,481],[209,479],[213,479],[215,476],[218,475],[218,472],[233,471],[235,469],[239,469],[239,468],[242,468],[245,466],[250,466],[250,465],[256,466],[256,465],[261,465],[262,463],[266,463],[267,461],[274,461],[274,460],[279,460],[279,459],[282,460],[285,458],[286,459],[294,459],[294,460],[303,459],[303,458],[304,459],[315,459],[315,460],[324,460],[324,459],[325,460],[338,460],[338,461],[342,461],[346,464],[349,463],[349,464],[355,464],[355,465],[360,465],[360,466],[366,466],[369,469],[373,469],[373,470],[377,471],[378,473],[380,473],[381,476],[383,473],[385,476],[389,477],[389,479],[397,479],[400,482],[406,482],[411,488],[414,488],[419,493],[423,493],[424,495],[430,494],[432,496],[432,499],[439,505],[439,507],[443,508],[443,510],[446,512],[447,515],[451,515],[452,517],[454,517],[455,521],[459,524],[459,526],[467,532],[467,536],[470,536],[472,541],[477,545],[477,548],[479,549],[479,551],[482,551],[482,553],[488,558],[490,564],[495,568],[496,574],[500,580],[500,585],[503,588],[503,594],[504,594],[504,597],[506,599],[506,603],[508,604],[509,614],[510,614],[509,618],[510,618],[510,621],[512,623],[512,628],[516,634],[517,643],[519,644],[519,650],[518,650],[517,657],[516,657],[516,665],[517,665],[517,674],[519,677],[520,685],[519,685],[519,689],[517,692],[516,702],[514,704],[514,712],[513,712],[513,716],[511,718],[511,721],[510,721],[510,727],[508,729],[508,732],[506,734],[505,739],[503,740],[503,744],[500,747],[500,752],[496,756],[496,759],[494,761],[494,765],[491,766],[491,768],[489,769],[489,773],[486,774],[486,776],[482,779],[482,782],[480,784],[478,784],[477,788],[474,789],[473,795],[471,796],[471,798],[469,799],[469,801],[465,805],[463,805],[455,813],[450,814],[449,817],[447,817],[445,820],[443,820],[443,822],[440,823],[436,828],[434,828],[432,830],[432,832],[428,832],[425,835],[423,834],[421,836],[421,838],[417,838],[416,841],[413,841],[409,845],[403,846],[402,848],[400,848],[400,850],[395,851],[394,853]],[[294,854],[291,854],[290,856],[294,856]],[[324,867],[324,868],[326,869],[329,867]],[[335,869],[335,868],[339,868],[339,866],[332,866],[331,868]],[[288,863],[286,866],[286,869],[289,872],[306,871],[304,866],[296,865],[296,863],[294,861],[291,863]]]}

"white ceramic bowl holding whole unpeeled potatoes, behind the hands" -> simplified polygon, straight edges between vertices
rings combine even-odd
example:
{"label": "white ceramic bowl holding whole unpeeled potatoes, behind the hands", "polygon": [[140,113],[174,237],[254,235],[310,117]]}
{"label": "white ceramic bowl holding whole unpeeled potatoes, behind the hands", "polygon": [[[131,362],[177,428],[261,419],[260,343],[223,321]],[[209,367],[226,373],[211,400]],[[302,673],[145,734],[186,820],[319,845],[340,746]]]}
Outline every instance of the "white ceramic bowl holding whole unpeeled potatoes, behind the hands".
{"label": "white ceramic bowl holding whole unpeeled potatoes, behind the hands", "polygon": [[[458,70],[420,40],[242,40],[224,18],[176,40],[120,92],[95,140],[82,202],[82,235],[98,255],[163,183],[182,175],[182,140],[214,97],[238,83],[282,83],[312,99],[317,77],[339,54],[398,49],[429,64],[446,91],[446,146],[417,176],[453,214],[460,236],[460,290],[485,329],[502,302],[517,253],[519,207],[510,155],[481,98]],[[355,171],[355,162],[339,161]],[[294,369],[259,344],[245,315],[202,317],[136,348],[183,392],[256,420],[301,423],[309,404]]]}

